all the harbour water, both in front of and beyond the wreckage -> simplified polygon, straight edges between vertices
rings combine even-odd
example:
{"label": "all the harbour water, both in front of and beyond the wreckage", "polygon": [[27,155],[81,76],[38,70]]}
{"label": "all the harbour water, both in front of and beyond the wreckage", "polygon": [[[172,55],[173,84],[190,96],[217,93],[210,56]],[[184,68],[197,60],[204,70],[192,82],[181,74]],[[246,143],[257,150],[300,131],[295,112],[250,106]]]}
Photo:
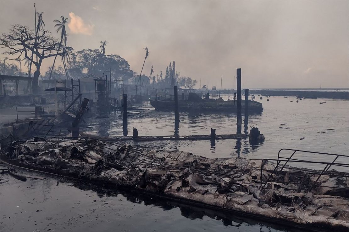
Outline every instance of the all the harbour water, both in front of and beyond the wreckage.
{"label": "all the harbour water, both in front of and beyond the wreckage", "polygon": [[[265,135],[262,144],[250,145],[247,139],[227,139],[215,144],[210,141],[157,141],[136,145],[178,149],[210,158],[276,158],[281,148],[348,154],[348,101],[305,99],[296,103],[294,97],[269,99],[269,102],[264,97],[261,100],[264,107],[261,114],[248,118],[248,129],[258,126]],[[319,104],[324,101],[326,103]],[[142,107],[149,107],[147,104]],[[180,113],[180,120],[179,135],[208,135],[211,127],[216,128],[217,135],[236,133],[234,114]],[[88,123],[88,133],[122,135],[120,115],[92,118]],[[287,124],[281,125],[283,123]],[[133,127],[139,130],[139,135],[173,135],[174,115],[155,110],[130,114],[129,135],[132,135]],[[302,137],[305,138],[299,140]],[[329,160],[324,155],[310,158]],[[43,176],[37,172],[19,171],[25,175]],[[243,215],[222,214],[150,195],[110,191],[52,175],[45,177],[44,180],[21,182],[1,176],[8,180],[0,186],[1,231],[297,231]]]}

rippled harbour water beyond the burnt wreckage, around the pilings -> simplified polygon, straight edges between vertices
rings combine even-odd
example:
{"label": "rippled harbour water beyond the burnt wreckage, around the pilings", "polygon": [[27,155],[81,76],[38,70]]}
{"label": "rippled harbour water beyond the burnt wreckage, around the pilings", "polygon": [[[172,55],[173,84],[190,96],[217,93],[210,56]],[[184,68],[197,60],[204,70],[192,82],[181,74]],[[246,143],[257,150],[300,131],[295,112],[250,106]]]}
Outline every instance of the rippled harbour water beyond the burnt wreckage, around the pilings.
{"label": "rippled harbour water beyond the burnt wreckage, around the pilings", "polygon": [[[266,97],[258,99],[263,104],[263,112],[248,117],[248,131],[252,126],[257,126],[265,135],[265,141],[261,144],[250,145],[248,139],[219,140],[214,145],[210,141],[157,141],[138,144],[178,149],[209,158],[240,156],[250,159],[275,159],[282,148],[348,155],[349,101],[321,98],[302,99],[296,103],[296,97],[275,96],[269,99],[269,102]],[[142,107],[152,109],[149,103],[144,103]],[[216,129],[217,135],[236,133],[235,114],[189,112],[180,113],[180,120],[179,135],[209,135],[211,127]],[[281,125],[284,123],[286,124]],[[119,115],[110,115],[107,119],[92,119],[89,126],[88,133],[122,136],[122,117]],[[133,127],[138,129],[140,136],[174,135],[174,113],[149,110],[141,111],[138,115],[129,115],[128,135],[132,135]],[[300,140],[303,137],[305,138]],[[283,154],[287,156],[290,153]],[[326,162],[333,159],[326,155],[299,155]],[[339,161],[349,162],[343,159]],[[321,168],[312,165],[308,167]]]}

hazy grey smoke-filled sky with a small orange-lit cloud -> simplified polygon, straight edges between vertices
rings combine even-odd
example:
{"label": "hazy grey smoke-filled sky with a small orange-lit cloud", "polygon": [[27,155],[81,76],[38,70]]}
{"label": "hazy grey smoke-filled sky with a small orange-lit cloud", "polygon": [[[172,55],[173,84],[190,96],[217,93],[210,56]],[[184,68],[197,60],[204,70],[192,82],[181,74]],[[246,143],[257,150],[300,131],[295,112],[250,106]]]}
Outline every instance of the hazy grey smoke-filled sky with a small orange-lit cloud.
{"label": "hazy grey smoke-filled sky with a small orange-lit cloud", "polygon": [[[45,29],[68,17],[68,46],[125,58],[134,72],[163,73],[176,61],[198,83],[243,88],[348,88],[349,1],[35,1]],[[0,31],[34,28],[34,1],[0,1]],[[3,52],[3,49],[1,49]],[[3,56],[3,55],[2,55]],[[52,65],[48,60],[46,66]],[[107,67],[106,67],[107,68]],[[196,86],[199,87],[199,84]]]}

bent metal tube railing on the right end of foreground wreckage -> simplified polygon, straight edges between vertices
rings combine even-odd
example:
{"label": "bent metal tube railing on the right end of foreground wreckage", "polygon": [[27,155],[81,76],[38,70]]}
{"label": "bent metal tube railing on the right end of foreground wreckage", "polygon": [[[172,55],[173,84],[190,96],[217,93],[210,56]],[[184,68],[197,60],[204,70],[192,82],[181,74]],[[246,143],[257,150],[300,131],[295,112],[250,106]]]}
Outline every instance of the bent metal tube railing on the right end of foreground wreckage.
{"label": "bent metal tube railing on the right end of foreground wreckage", "polygon": [[[282,151],[291,151],[292,154],[289,157],[284,157],[281,155]],[[302,158],[295,159],[296,153],[306,153],[306,154],[316,154],[316,155],[328,155],[328,157],[333,158],[331,162],[321,162],[306,159],[307,156],[303,155]],[[323,153],[323,152],[313,152],[313,151],[303,151],[303,150],[295,150],[295,149],[281,149],[277,154],[277,159],[263,159],[261,164],[261,187],[265,187],[268,182],[275,183],[283,183],[283,184],[295,184],[298,185],[297,192],[304,190],[305,192],[309,192],[314,187],[322,186],[334,188],[333,186],[324,186],[318,183],[321,176],[329,176],[329,177],[349,177],[348,172],[341,172],[337,170],[329,170],[331,167],[345,167],[346,170],[349,170],[349,162],[341,163],[336,162],[338,158],[345,158],[347,161],[349,160],[348,155],[340,155],[340,154],[331,154],[331,153]],[[273,170],[266,169],[264,166],[267,161],[276,161],[276,166]],[[322,170],[312,170],[307,168],[298,168],[298,167],[290,167],[287,166],[288,163],[302,163],[303,165],[323,165],[325,166]],[[267,173],[264,175],[263,173]],[[316,177],[317,175],[317,177]],[[312,181],[311,177],[315,176],[316,180]],[[263,180],[263,177],[266,177]],[[313,182],[313,183],[312,183]],[[264,184],[264,185],[263,185]],[[262,186],[263,185],[263,186]],[[308,186],[308,187],[306,187]],[[337,188],[337,187],[335,187]],[[349,189],[348,189],[349,191]]]}

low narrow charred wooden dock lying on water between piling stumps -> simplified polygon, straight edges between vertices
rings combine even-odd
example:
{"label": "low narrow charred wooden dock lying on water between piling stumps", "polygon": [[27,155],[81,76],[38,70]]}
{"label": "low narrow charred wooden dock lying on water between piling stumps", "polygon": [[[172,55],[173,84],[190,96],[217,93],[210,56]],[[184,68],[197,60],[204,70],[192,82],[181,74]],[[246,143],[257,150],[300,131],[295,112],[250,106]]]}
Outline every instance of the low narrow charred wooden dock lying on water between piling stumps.
{"label": "low narrow charred wooden dock lying on water between piling stumps", "polygon": [[[101,139],[105,141],[115,141],[115,140],[134,140],[134,141],[160,141],[160,140],[189,140],[189,141],[195,141],[195,140],[210,140],[209,135],[188,135],[188,136],[114,136],[114,137],[102,137],[98,135],[91,135],[87,133],[83,133],[80,131],[80,135],[88,138],[96,138]],[[228,135],[216,135],[216,140],[220,139],[242,139],[247,138],[248,135],[245,134],[228,134]]]}

